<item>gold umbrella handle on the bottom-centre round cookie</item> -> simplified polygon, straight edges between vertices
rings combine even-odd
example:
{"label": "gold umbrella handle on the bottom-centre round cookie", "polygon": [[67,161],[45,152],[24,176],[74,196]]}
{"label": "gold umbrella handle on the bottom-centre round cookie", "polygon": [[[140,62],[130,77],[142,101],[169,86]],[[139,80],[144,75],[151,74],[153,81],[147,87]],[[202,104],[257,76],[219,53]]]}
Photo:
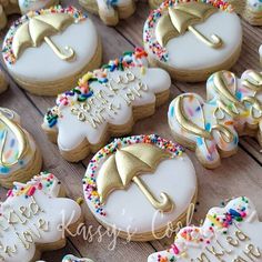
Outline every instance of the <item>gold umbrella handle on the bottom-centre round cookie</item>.
{"label": "gold umbrella handle on the bottom-centre round cookie", "polygon": [[160,194],[161,201],[159,201],[154,198],[154,195],[150,192],[148,187],[144,184],[144,182],[140,178],[133,177],[132,181],[139,187],[142,193],[149,200],[149,202],[154,206],[154,209],[163,211],[163,212],[169,212],[173,209],[174,204],[167,193],[162,192]]}

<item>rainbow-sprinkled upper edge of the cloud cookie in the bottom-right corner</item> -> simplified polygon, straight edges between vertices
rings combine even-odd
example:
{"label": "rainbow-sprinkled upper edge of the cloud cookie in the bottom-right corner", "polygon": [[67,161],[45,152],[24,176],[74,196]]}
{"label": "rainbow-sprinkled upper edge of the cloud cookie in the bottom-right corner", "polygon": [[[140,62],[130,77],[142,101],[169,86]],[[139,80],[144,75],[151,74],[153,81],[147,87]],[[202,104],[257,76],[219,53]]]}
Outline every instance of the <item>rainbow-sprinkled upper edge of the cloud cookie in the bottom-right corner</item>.
{"label": "rainbow-sprinkled upper edge of the cloud cookie in the bottom-right corner", "polygon": [[[250,223],[250,218],[254,215],[256,216],[256,212],[253,210],[253,204],[245,196],[233,199],[223,208],[212,208],[208,212],[202,226],[191,225],[181,229],[170,249],[151,254],[148,261],[175,262],[185,261],[184,259],[190,261],[190,250],[198,251],[199,249],[198,255],[200,255],[201,250],[212,246],[213,241],[219,240],[218,233],[226,238],[233,226],[239,229],[242,223]],[[248,232],[244,233],[249,235]]]}

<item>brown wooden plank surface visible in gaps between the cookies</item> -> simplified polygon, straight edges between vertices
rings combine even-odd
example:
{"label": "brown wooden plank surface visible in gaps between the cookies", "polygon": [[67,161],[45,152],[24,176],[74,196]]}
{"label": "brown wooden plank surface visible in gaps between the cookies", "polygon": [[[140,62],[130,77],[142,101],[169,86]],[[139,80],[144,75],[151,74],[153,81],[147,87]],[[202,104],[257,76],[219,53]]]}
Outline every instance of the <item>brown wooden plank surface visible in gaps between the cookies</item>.
{"label": "brown wooden plank surface visible in gaps between the cookies", "polygon": [[[143,1],[139,2],[135,14],[121,21],[115,28],[105,27],[98,17],[90,14],[103,41],[104,62],[119,57],[123,51],[142,47],[142,28],[149,13],[149,7]],[[70,1],[70,3],[79,7],[77,1]],[[262,27],[251,27],[244,21],[242,24],[244,31],[242,53],[232,69],[238,75],[241,75],[246,69],[261,69],[258,49],[262,43]],[[2,39],[4,32],[1,32],[0,36]],[[0,67],[6,71],[2,61]],[[34,137],[42,151],[43,170],[53,172],[62,181],[69,198],[83,196],[81,179],[92,155],[77,164],[64,161],[57,145],[49,142],[41,130],[43,114],[54,104],[54,98],[32,95],[20,89],[9,75],[8,78],[10,88],[0,95],[0,105],[16,110],[21,115],[23,127]],[[170,101],[179,93],[188,91],[205,97],[204,83],[188,84],[173,81],[171,89]],[[158,133],[163,138],[172,139],[167,121],[168,107],[169,102],[159,108],[153,117],[139,121],[134,125],[132,134]],[[194,163],[199,181],[199,204],[194,213],[194,222],[198,223],[203,219],[211,206],[220,204],[222,200],[239,195],[246,195],[255,203],[262,220],[262,154],[260,151],[261,148],[254,139],[241,138],[238,154],[223,159],[222,165],[215,170],[204,169],[195,159],[194,153],[187,151]],[[0,189],[1,201],[4,200],[6,193],[6,190]],[[114,238],[99,228],[99,223],[85,203],[82,204],[82,211],[89,229],[85,239],[70,238],[64,249],[43,253],[43,260],[57,262],[61,261],[63,255],[72,253],[78,256],[89,256],[97,262],[143,262],[147,261],[150,253],[168,248],[173,241],[173,236],[171,236],[144,243],[127,242],[122,239],[114,242]],[[104,233],[104,235],[101,238],[100,233]]]}

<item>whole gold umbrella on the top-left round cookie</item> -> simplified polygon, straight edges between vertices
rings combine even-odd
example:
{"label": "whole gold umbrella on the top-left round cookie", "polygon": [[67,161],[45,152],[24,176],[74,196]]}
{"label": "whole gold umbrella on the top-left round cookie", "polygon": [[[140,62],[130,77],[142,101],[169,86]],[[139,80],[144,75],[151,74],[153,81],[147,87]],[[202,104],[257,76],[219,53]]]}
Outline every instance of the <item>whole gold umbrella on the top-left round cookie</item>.
{"label": "whole gold umbrella on the top-left round cookie", "polygon": [[14,57],[18,58],[28,47],[37,48],[42,41],[46,41],[60,59],[71,60],[74,57],[73,49],[66,47],[64,50],[61,50],[49,37],[63,31],[73,22],[74,19],[68,13],[48,13],[29,18],[13,36],[12,51]]}

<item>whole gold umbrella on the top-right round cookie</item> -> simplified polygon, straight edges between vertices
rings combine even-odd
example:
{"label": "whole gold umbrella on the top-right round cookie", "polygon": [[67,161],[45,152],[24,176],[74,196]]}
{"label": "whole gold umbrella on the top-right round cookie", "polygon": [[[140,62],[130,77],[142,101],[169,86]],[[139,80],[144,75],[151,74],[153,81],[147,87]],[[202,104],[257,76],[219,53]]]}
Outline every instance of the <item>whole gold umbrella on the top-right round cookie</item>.
{"label": "whole gold umbrella on the top-right round cookie", "polygon": [[212,34],[211,39],[208,39],[193,27],[193,24],[204,22],[215,12],[218,12],[218,8],[201,2],[179,3],[169,8],[168,13],[163,14],[157,24],[157,40],[164,47],[172,38],[184,34],[187,30],[190,30],[202,42],[218,49],[223,44],[221,38]]}

